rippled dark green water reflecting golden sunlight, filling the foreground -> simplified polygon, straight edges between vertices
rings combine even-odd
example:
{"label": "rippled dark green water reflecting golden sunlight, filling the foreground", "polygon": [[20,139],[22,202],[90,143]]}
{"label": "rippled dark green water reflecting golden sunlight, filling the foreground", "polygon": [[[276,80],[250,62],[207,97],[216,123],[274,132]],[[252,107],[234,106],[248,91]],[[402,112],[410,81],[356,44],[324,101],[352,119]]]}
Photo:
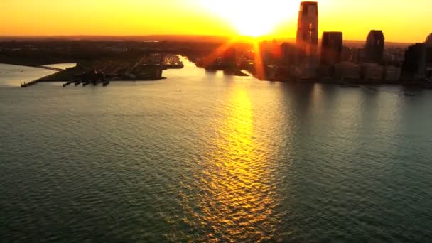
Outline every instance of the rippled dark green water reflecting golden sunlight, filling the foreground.
{"label": "rippled dark green water reflecting golden sunlight, filling the foreground", "polygon": [[[0,71],[6,242],[431,242],[432,91],[260,82],[18,88]],[[50,71],[48,71],[50,72]]]}

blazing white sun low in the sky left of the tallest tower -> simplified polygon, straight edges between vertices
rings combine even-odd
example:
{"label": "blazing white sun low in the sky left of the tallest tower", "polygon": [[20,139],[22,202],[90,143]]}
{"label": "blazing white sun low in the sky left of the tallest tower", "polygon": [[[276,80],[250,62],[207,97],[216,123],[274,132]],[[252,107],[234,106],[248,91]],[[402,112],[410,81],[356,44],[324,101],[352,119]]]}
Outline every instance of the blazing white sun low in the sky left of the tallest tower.
{"label": "blazing white sun low in the sky left of the tallest tower", "polygon": [[206,9],[225,18],[240,35],[264,36],[290,18],[298,1],[290,0],[201,0]]}

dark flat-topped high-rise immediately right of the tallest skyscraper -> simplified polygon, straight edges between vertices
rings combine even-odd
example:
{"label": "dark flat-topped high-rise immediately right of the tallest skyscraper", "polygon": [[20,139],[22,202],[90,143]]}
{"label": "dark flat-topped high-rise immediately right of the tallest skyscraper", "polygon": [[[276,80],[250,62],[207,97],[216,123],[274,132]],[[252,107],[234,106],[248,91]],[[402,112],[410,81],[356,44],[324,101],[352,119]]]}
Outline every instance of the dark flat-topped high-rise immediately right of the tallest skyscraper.
{"label": "dark flat-topped high-rise immediately right of the tallest skyscraper", "polygon": [[335,65],[342,60],[342,32],[324,32],[321,39],[321,64]]}

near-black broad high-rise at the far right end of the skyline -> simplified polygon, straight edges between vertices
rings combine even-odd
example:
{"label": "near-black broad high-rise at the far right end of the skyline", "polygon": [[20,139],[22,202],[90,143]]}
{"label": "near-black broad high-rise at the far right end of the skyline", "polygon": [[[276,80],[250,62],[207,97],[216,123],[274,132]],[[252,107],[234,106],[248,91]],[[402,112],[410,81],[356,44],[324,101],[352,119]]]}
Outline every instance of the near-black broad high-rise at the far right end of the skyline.
{"label": "near-black broad high-rise at the far right end of the skyline", "polygon": [[416,43],[410,45],[405,51],[405,60],[402,65],[404,80],[416,81],[426,78],[426,44]]}

